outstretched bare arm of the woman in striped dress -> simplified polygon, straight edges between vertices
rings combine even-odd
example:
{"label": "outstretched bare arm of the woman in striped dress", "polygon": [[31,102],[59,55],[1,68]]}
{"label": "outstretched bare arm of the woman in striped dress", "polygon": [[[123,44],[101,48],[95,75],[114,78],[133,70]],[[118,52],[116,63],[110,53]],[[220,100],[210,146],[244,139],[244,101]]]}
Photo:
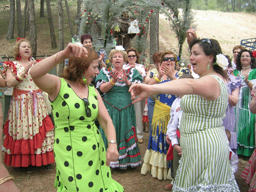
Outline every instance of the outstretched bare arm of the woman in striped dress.
{"label": "outstretched bare arm of the woman in striped dress", "polygon": [[[203,88],[202,88],[203,87]],[[212,76],[204,76],[200,79],[175,79],[155,85],[135,84],[130,87],[131,98],[133,103],[142,101],[152,94],[198,94],[202,98],[213,101],[219,98],[219,82]],[[135,99],[136,96],[139,98]]]}

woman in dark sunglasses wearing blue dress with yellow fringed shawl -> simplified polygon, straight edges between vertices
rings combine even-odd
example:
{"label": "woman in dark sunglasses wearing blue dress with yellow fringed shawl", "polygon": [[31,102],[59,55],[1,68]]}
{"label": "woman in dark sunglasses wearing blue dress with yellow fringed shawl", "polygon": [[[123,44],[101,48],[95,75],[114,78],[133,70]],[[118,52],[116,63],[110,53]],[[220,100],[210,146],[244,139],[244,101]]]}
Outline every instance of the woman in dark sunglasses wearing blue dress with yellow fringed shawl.
{"label": "woman in dark sunglasses wearing blue dress with yellow fringed shawl", "polygon": [[[149,85],[162,84],[178,77],[178,70],[175,70],[177,58],[173,51],[161,53],[158,72],[151,74]],[[167,178],[166,154],[169,144],[166,143],[167,124],[170,119],[170,107],[176,99],[173,94],[157,94],[155,99],[154,113],[152,117],[151,133],[149,135],[148,149],[146,150],[144,163],[140,173],[146,175],[151,172],[154,178]],[[154,159],[152,161],[151,159]]]}

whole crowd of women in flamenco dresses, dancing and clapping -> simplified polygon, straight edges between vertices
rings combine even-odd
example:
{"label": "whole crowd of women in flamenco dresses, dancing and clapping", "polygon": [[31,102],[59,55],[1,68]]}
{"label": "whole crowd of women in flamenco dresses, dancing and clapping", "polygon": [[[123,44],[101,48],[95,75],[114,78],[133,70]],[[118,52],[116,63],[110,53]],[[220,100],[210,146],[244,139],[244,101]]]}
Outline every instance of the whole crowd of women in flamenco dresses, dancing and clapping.
{"label": "whole crowd of women in flamenco dresses, dancing and clapping", "polygon": [[[179,70],[175,52],[164,51],[145,70],[138,51],[122,46],[110,51],[107,68],[105,51],[92,49],[89,34],[81,36],[83,46],[69,43],[43,60],[34,60],[30,43],[17,39],[15,61],[4,62],[0,76],[2,87],[13,87],[4,163],[31,172],[55,162],[57,191],[123,191],[110,167],[142,164],[138,143],[147,101],[150,133],[142,175],[173,178],[166,190],[239,191],[230,154],[252,155],[242,177],[256,190],[256,52],[236,46],[231,62],[217,40],[199,39],[194,29],[187,31],[187,42],[189,69]],[[68,63],[61,76],[50,75],[63,60]],[[199,78],[184,75],[190,72]],[[18,191],[1,169],[0,188]]]}

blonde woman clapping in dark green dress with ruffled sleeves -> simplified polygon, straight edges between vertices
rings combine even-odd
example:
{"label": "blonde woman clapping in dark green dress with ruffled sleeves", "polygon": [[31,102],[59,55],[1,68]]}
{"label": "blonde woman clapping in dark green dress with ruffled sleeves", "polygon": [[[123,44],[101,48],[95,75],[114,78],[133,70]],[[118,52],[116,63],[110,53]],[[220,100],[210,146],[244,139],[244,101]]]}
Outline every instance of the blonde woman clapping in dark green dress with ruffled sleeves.
{"label": "blonde woman clapping in dark green dress with ruffled sleeves", "polygon": [[[103,101],[116,128],[119,161],[111,162],[110,167],[137,167],[141,164],[141,156],[137,146],[135,110],[128,90],[132,84],[142,82],[142,76],[135,68],[123,69],[123,63],[127,60],[125,51],[111,50],[109,60],[114,69],[103,68],[96,82],[97,87],[105,93]],[[105,134],[101,128],[100,131],[107,148]]]}

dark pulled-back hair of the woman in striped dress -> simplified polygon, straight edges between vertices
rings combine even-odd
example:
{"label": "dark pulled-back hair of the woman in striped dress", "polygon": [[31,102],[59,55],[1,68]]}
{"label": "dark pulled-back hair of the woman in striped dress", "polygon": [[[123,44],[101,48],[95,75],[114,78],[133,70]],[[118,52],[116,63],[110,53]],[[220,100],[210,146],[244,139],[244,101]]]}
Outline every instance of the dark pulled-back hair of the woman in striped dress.
{"label": "dark pulled-back hair of the woman in striped dress", "polygon": [[[222,54],[222,49],[220,48],[219,42],[217,42],[217,40],[215,39],[193,39],[193,41],[189,45],[190,50],[196,44],[201,46],[205,55],[213,56],[213,63],[216,63],[216,60],[217,60],[216,56],[218,54]],[[222,67],[218,66],[217,64],[214,64],[213,69],[216,73],[219,73],[223,78],[225,79],[228,78],[228,75],[226,75],[225,70],[222,70]]]}

